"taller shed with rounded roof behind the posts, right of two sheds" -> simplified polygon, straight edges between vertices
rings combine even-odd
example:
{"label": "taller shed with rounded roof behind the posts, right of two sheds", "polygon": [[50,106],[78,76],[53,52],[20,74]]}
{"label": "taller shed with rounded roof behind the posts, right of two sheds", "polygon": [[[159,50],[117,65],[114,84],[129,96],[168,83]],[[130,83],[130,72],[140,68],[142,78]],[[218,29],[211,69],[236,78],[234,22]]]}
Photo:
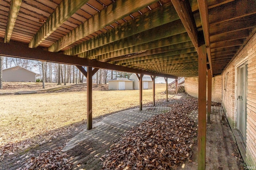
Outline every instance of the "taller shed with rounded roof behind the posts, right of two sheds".
{"label": "taller shed with rounded roof behind the posts, right of two sheds", "polygon": [[[134,90],[139,90],[140,89],[140,81],[136,74],[132,74],[130,76],[130,80],[134,80],[133,82],[133,89]],[[144,75],[142,77],[142,87],[143,89],[152,89],[153,88],[153,82],[150,76]]]}

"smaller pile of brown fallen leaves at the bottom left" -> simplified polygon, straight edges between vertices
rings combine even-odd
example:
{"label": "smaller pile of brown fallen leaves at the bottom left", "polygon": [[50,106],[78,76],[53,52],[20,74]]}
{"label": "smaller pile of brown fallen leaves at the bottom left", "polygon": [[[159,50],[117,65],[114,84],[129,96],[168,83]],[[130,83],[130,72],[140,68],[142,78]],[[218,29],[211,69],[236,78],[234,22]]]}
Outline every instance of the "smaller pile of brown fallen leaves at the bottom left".
{"label": "smaller pile of brown fallen leaves at the bottom left", "polygon": [[36,158],[32,157],[27,160],[25,168],[19,168],[18,170],[70,170],[73,164],[70,162],[68,155],[62,152],[62,148],[46,150]]}

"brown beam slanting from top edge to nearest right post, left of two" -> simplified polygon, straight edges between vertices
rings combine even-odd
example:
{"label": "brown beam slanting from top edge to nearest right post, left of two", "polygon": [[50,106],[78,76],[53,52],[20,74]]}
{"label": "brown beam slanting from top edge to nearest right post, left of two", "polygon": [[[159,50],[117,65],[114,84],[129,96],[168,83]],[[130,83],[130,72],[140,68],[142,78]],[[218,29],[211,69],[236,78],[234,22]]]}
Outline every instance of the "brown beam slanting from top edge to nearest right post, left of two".
{"label": "brown beam slanting from top edge to nearest right post, left of two", "polygon": [[192,14],[190,3],[188,0],[171,0],[180,20],[182,21],[188,36],[190,37],[194,47],[197,49],[200,45],[198,40],[198,31],[196,28],[196,22]]}

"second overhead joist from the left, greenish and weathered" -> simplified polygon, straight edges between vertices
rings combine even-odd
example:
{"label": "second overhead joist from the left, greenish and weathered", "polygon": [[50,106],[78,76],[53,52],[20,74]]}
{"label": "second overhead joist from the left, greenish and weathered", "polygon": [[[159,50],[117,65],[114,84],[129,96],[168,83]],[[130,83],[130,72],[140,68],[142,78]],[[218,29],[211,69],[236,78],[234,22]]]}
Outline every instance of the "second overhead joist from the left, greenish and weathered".
{"label": "second overhead joist from the left, greenish and weathered", "polygon": [[53,33],[62,23],[72,16],[89,0],[63,0],[56,10],[49,16],[46,22],[40,27],[36,35],[29,43],[30,48],[40,45],[51,33]]}

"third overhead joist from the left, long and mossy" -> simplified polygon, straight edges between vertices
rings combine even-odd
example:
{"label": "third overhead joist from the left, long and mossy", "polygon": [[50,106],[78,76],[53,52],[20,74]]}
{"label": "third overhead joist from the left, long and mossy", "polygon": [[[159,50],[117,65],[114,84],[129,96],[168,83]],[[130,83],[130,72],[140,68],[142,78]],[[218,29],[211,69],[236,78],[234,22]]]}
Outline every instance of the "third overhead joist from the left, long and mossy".
{"label": "third overhead joist from the left, long and mossy", "polygon": [[140,0],[136,3],[134,3],[133,0],[115,1],[52,44],[48,48],[48,51],[60,51],[87,35],[90,35],[133,12],[137,12],[154,2],[157,2],[157,0]]}

